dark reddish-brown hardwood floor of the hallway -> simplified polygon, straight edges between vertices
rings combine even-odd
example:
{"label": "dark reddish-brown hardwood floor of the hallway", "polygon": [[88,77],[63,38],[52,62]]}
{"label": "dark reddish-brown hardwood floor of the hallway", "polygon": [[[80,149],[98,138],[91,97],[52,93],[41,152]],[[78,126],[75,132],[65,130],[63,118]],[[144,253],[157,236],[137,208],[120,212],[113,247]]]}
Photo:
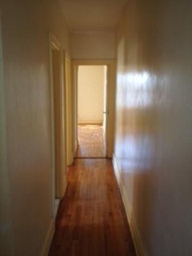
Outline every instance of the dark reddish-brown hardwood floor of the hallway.
{"label": "dark reddish-brown hardwood floor of the hallway", "polygon": [[75,159],[49,256],[135,256],[110,159]]}

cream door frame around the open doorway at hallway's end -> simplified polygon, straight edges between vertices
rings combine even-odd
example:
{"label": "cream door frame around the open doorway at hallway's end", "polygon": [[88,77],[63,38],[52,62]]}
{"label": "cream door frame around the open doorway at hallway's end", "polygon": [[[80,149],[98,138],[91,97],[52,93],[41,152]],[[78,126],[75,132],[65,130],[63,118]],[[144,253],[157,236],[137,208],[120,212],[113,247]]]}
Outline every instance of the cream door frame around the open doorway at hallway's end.
{"label": "cream door frame around the open doorway at hallway's end", "polygon": [[[73,82],[73,149],[74,155],[77,150],[78,138],[78,66],[107,66],[107,115],[106,115],[106,156],[113,156],[114,147],[114,119],[115,119],[115,60],[114,59],[73,59],[72,82]],[[110,126],[109,126],[110,123]]]}

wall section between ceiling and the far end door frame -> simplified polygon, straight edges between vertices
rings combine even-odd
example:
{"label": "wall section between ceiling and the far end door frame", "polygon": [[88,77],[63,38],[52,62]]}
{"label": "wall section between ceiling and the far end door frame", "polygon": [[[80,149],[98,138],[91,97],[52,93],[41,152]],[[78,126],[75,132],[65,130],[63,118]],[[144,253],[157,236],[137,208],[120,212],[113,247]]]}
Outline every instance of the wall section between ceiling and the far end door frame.
{"label": "wall section between ceiling and the far end door frame", "polygon": [[114,59],[115,33],[71,33],[71,57],[73,59]]}

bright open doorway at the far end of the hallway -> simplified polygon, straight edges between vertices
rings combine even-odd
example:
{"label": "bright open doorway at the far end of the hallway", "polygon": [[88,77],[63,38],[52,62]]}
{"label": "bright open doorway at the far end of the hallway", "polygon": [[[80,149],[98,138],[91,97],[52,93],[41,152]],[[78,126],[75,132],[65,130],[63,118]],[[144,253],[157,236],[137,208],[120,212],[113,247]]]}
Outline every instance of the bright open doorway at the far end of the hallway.
{"label": "bright open doorway at the far end of the hallway", "polygon": [[106,157],[106,65],[79,65],[76,158]]}

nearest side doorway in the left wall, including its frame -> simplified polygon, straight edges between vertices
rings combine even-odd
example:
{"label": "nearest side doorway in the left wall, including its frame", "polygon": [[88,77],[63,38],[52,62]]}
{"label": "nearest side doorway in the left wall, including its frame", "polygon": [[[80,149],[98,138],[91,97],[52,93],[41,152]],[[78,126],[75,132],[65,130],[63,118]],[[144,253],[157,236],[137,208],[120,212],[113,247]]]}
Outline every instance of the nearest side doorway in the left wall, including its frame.
{"label": "nearest side doorway in the left wall, including its frame", "polygon": [[53,218],[66,190],[65,83],[63,49],[57,38],[49,34],[50,103],[51,103],[51,165]]}

